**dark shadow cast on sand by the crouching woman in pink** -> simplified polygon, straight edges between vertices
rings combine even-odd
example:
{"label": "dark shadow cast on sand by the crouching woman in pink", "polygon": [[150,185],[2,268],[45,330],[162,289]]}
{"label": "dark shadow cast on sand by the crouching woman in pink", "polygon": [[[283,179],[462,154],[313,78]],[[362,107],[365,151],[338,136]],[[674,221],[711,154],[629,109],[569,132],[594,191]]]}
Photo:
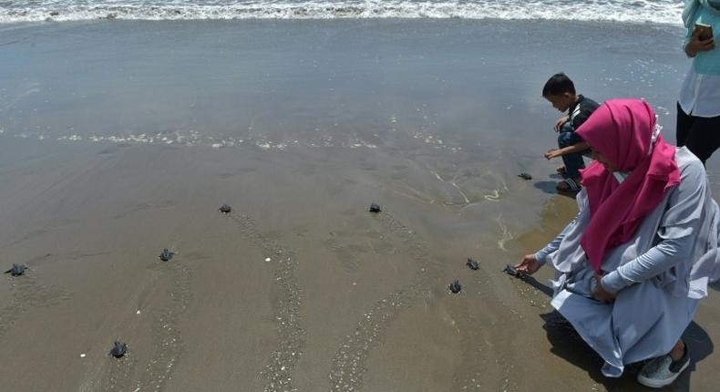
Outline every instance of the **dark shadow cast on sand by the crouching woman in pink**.
{"label": "dark shadow cast on sand by the crouching woman in pink", "polygon": [[[540,290],[540,292],[552,295],[552,289],[545,284],[540,284],[535,278],[527,276],[523,278],[527,284]],[[690,323],[685,329],[683,340],[690,350],[690,366],[678,377],[675,382],[661,389],[643,387],[635,381],[637,373],[643,366],[643,363],[630,364],[625,366],[625,372],[620,378],[603,377],[600,369],[602,367],[602,358],[598,356],[590,346],[588,346],[575,332],[571,323],[567,321],[559,312],[552,311],[547,314],[540,315],[545,322],[542,326],[548,335],[548,340],[552,345],[550,352],[556,356],[561,356],[571,364],[581,367],[587,371],[596,383],[602,384],[609,391],[674,391],[687,392],[692,390],[690,378],[695,370],[695,364],[705,359],[713,353],[715,346],[710,336],[707,335],[705,329],[695,322]]]}

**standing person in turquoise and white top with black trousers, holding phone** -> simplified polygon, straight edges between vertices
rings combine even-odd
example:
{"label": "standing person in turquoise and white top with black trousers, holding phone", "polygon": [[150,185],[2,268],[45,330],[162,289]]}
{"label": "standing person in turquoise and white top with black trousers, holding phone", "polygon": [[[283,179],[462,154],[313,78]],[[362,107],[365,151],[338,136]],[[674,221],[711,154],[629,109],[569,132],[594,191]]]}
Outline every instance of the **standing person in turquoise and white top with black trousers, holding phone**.
{"label": "standing person in turquoise and white top with black trousers, holding phone", "polygon": [[705,164],[720,147],[720,50],[715,49],[715,38],[701,36],[695,24],[720,33],[720,0],[686,0],[683,22],[683,49],[693,64],[680,88],[675,138]]}

